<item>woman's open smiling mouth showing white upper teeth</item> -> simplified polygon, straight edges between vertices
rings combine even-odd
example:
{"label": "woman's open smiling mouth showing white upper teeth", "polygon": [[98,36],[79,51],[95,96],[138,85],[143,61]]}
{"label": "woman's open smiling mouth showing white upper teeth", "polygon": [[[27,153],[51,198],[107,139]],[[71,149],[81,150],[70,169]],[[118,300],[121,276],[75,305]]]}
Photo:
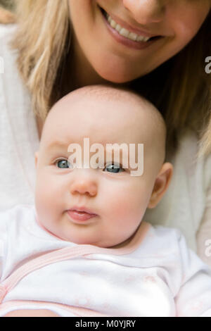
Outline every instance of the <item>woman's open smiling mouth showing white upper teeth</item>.
{"label": "woman's open smiling mouth showing white upper teeth", "polygon": [[162,36],[153,36],[153,37],[146,37],[141,34],[137,34],[133,31],[127,30],[125,27],[122,27],[119,23],[115,22],[115,20],[103,9],[99,6],[101,13],[103,14],[104,18],[106,18],[108,24],[115,29],[119,35],[132,40],[133,42],[143,43],[143,42],[153,42],[156,41]]}

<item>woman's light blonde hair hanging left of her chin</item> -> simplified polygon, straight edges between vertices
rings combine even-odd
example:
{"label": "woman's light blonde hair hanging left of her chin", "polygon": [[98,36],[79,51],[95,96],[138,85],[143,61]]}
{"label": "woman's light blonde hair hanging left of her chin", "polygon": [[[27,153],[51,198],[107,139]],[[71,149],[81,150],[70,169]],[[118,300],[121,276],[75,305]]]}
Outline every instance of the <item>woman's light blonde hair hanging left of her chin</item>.
{"label": "woman's light blonde hair hanging left of her chin", "polygon": [[34,112],[44,120],[64,56],[68,0],[20,0],[16,13],[19,24],[13,46],[18,49],[18,69],[32,94]]}

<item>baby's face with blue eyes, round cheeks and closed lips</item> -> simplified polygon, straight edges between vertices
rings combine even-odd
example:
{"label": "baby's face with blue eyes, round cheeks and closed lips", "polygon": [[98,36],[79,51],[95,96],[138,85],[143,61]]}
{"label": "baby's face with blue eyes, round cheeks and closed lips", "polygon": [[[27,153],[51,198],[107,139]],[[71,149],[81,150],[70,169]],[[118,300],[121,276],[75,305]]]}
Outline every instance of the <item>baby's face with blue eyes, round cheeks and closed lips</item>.
{"label": "baby's face with blue eyes, round cheeks and closed lips", "polygon": [[[51,110],[36,157],[37,217],[46,230],[76,244],[101,247],[124,244],[134,235],[159,170],[146,111],[129,102],[94,97],[63,99]],[[82,161],[86,161],[84,138],[89,138],[90,146],[101,144],[105,154],[106,144],[144,144],[143,175],[132,176],[132,169],[123,168],[122,157],[119,168],[113,169],[111,154],[104,168],[72,168],[68,146],[79,144]],[[90,158],[94,154],[91,152]],[[79,208],[87,209],[91,218],[71,211]]]}

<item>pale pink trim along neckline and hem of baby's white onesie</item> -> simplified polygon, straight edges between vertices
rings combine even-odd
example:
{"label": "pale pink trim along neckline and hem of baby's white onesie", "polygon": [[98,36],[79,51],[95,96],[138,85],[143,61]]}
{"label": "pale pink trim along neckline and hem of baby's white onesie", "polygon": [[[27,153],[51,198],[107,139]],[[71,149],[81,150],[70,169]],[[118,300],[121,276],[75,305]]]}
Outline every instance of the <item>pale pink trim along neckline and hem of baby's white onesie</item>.
{"label": "pale pink trim along neckline and hem of baby's white onesie", "polygon": [[[90,254],[114,254],[114,255],[126,255],[132,253],[136,249],[137,246],[141,244],[144,237],[146,237],[146,234],[148,230],[150,229],[151,225],[146,222],[142,222],[139,229],[137,230],[136,234],[132,238],[131,242],[127,244],[127,246],[123,246],[116,249],[107,249],[92,245],[80,245],[80,246],[74,246],[74,247],[66,247],[64,249],[58,249],[56,251],[52,251],[51,253],[44,254],[43,256],[39,256],[38,258],[34,258],[32,261],[25,263],[23,266],[15,270],[14,273],[12,273],[4,282],[1,282],[0,284],[0,305],[1,308],[5,308],[6,304],[10,304],[9,302],[6,302],[3,304],[3,301],[5,299],[5,296],[8,292],[10,292],[13,287],[15,287],[18,282],[20,282],[23,277],[28,275],[29,273],[32,273],[32,271],[40,269],[44,266],[48,266],[49,264],[56,263],[59,261],[65,261],[69,260],[70,258],[76,258],[77,256],[86,256]],[[11,301],[11,304],[17,302],[19,303],[24,302],[34,304],[34,301]],[[38,302],[38,301],[36,301]],[[42,303],[44,304],[44,303]],[[48,303],[50,304],[50,303]],[[61,306],[64,306],[65,309],[68,308],[66,305],[60,305],[60,304],[51,304],[51,305],[57,305],[61,308]],[[0,308],[0,310],[1,310]],[[84,308],[68,308],[68,311],[71,311],[75,314],[79,313],[79,316],[89,316],[84,314],[89,314],[91,312],[92,316],[100,316],[97,312],[89,311]],[[96,315],[95,315],[96,314]],[[102,316],[102,315],[101,315]]]}

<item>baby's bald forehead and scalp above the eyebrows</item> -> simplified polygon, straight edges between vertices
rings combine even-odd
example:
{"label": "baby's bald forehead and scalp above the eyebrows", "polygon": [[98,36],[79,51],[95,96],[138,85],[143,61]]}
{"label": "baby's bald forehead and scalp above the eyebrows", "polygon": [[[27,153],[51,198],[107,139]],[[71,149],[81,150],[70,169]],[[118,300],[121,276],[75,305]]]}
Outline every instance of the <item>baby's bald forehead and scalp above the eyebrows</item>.
{"label": "baby's bald forehead and scalp above the eyebrows", "polygon": [[94,85],[71,92],[49,112],[41,144],[68,130],[75,142],[74,132],[93,137],[94,143],[143,143],[145,157],[154,154],[159,169],[165,161],[165,121],[153,104],[129,89]]}

